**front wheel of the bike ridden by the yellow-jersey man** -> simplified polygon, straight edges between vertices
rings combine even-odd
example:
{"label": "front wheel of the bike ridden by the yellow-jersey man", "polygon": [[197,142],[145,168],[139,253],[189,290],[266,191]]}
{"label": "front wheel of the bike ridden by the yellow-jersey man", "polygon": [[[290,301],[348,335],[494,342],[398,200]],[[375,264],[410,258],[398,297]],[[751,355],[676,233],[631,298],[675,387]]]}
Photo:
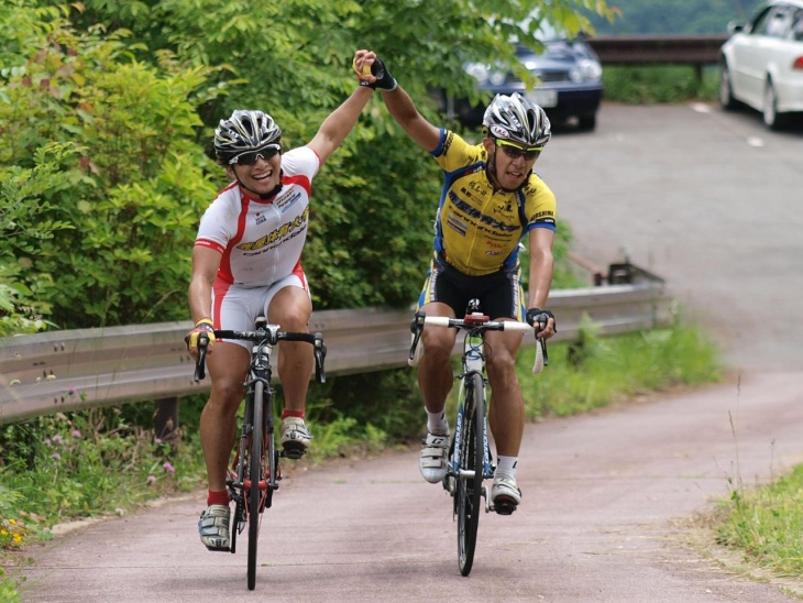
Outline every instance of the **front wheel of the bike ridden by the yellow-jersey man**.
{"label": "front wheel of the bike ridden by the yellow-jersey man", "polygon": [[[483,376],[475,373],[465,390],[463,441],[458,460],[461,475],[457,483],[458,562],[463,575],[469,575],[474,563],[482,512],[484,388]],[[464,476],[463,471],[469,474]]]}

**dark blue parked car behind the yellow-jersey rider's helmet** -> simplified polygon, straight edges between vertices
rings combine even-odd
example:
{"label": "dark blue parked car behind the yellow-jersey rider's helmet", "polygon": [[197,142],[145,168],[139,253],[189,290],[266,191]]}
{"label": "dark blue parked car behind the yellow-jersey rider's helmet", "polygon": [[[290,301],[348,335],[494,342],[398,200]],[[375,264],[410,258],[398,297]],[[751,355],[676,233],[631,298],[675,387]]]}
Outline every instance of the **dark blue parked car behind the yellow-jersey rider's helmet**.
{"label": "dark blue parked car behind the yellow-jersey rider's helmet", "polygon": [[494,65],[469,63],[464,65],[466,73],[476,78],[481,91],[490,94],[486,95],[487,100],[477,106],[465,100],[455,101],[455,117],[466,125],[479,124],[494,95],[521,92],[540,105],[551,122],[561,123],[576,118],[580,129],[593,130],[603,96],[600,58],[582,35],[568,40],[542,29],[539,40],[544,45],[541,53],[516,44],[516,56],[538,77],[539,83],[534,89],[527,90],[525,83],[513,73]]}

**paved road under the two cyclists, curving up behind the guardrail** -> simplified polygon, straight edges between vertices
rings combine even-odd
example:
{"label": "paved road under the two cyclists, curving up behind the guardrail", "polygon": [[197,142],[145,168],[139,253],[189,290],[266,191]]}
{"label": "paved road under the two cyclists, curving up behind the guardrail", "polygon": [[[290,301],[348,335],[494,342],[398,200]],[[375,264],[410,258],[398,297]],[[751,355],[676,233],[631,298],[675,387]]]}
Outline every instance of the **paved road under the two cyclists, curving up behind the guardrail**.
{"label": "paved road under the two cyclists, curving up behind the guardrail", "polygon": [[734,372],[528,425],[524,503],[481,518],[469,578],[450,500],[414,451],[292,471],[253,592],[244,551],[199,544],[198,496],[58,536],[34,551],[23,601],[793,601],[690,544],[690,519],[803,462],[802,158],[803,133],[694,106],[606,105],[596,132],[556,134],[539,172],[575,249],[604,265],[625,245],[713,329]]}

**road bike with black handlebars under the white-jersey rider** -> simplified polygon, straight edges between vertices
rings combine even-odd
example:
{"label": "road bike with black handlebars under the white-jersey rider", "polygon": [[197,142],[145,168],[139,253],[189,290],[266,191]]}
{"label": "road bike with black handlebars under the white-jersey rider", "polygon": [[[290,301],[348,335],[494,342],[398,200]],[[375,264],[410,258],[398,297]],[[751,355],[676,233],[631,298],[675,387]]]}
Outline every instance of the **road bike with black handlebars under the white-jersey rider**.
{"label": "road bike with black handlebars under the white-jersey rider", "polygon": [[[262,514],[273,504],[273,493],[279,487],[282,472],[279,458],[299,459],[300,449],[277,450],[274,434],[274,390],[271,386],[271,353],[279,341],[306,341],[315,353],[315,375],[318,383],[326,382],[323,362],[326,346],[321,333],[286,332],[278,325],[268,325],[258,317],[254,331],[232,331],[216,329],[217,339],[242,339],[253,342],[251,361],[245,380],[245,408],[242,415],[240,440],[238,442],[232,470],[227,478],[229,496],[234,502],[232,525],[230,527],[230,550],[237,550],[237,537],[249,528],[249,590],[256,585],[256,545],[262,524]],[[206,333],[198,337],[198,359],[195,380],[206,374],[206,354],[209,338]]]}

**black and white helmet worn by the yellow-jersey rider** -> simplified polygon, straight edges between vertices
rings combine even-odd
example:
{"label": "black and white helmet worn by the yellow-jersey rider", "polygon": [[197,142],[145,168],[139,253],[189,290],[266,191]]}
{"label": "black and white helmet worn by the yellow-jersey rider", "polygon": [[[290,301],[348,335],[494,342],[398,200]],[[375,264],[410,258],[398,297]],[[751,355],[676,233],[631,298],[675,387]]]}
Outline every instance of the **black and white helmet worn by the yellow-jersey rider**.
{"label": "black and white helmet worn by the yellow-jersey rider", "polygon": [[547,112],[518,92],[496,95],[485,110],[483,127],[492,138],[525,146],[543,146],[552,136]]}

